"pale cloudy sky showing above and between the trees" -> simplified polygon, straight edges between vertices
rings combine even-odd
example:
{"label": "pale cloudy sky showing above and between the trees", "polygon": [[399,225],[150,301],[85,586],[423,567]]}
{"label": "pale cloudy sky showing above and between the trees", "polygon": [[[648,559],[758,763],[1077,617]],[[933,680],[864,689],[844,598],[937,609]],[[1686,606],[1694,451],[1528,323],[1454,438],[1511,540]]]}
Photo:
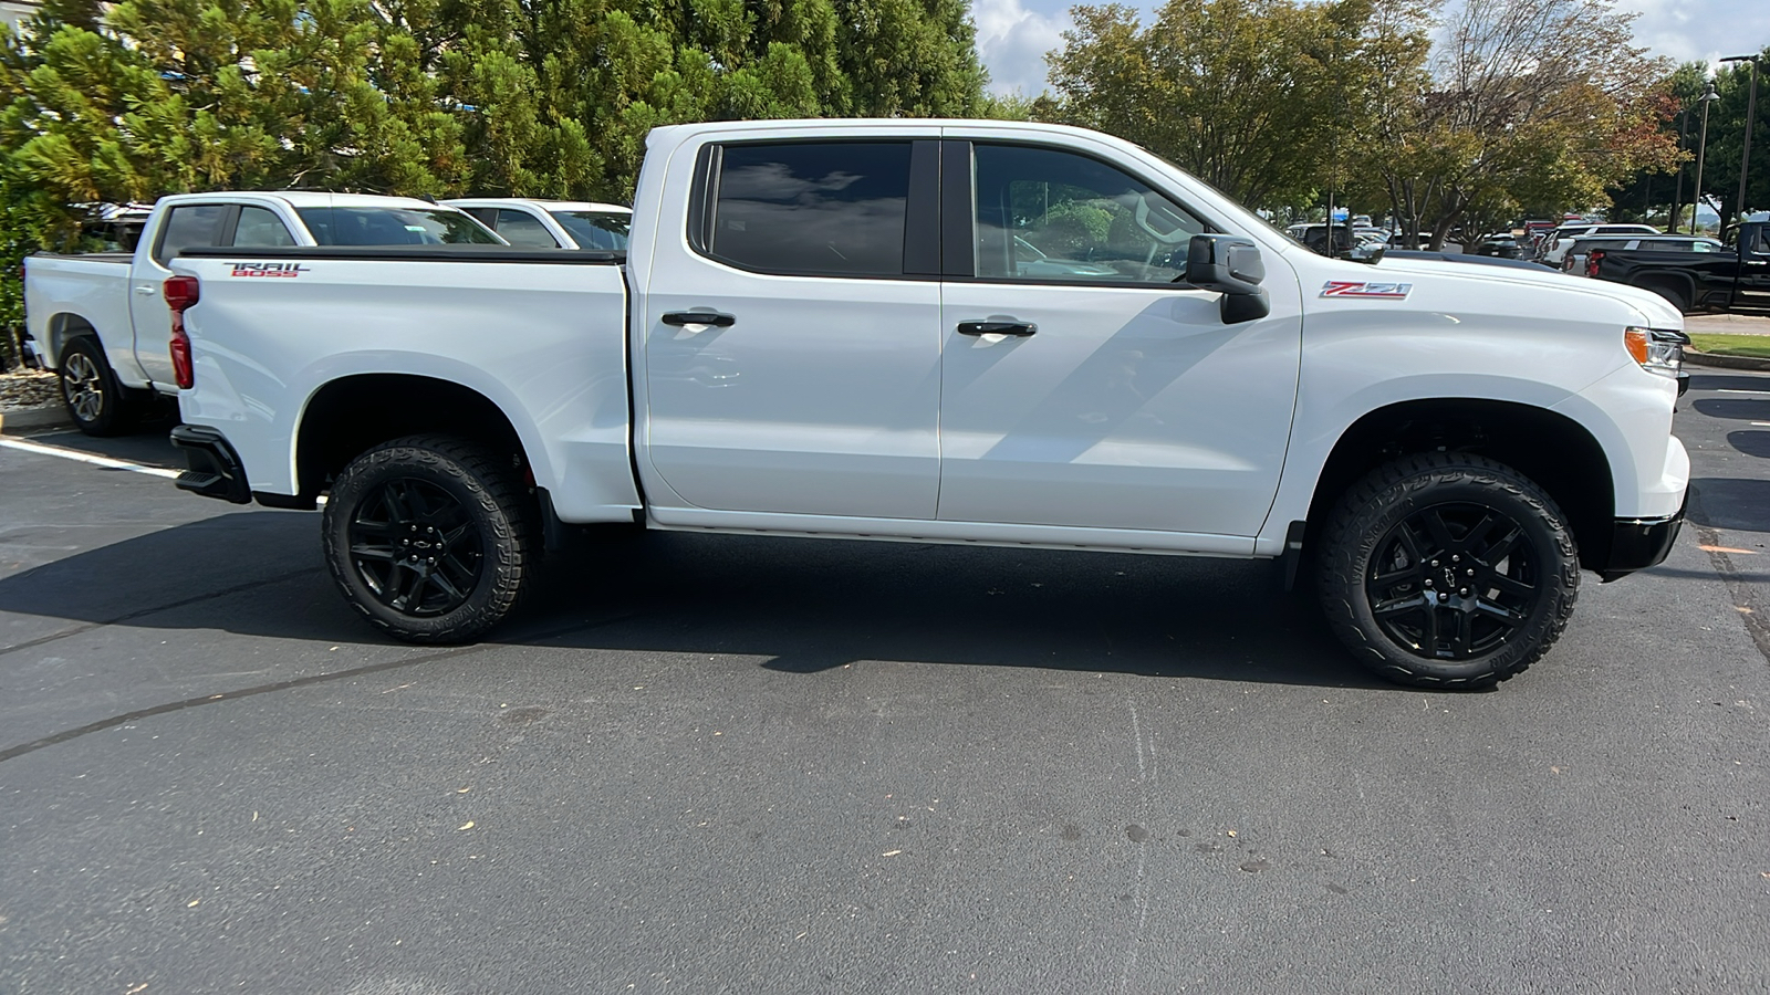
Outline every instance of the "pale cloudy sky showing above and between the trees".
{"label": "pale cloudy sky showing above and between the trees", "polygon": [[[1122,0],[1142,7],[1150,2]],[[1044,90],[1044,53],[1064,44],[1071,0],[972,0],[977,48],[998,94]],[[1618,0],[1639,12],[1635,42],[1676,62],[1712,62],[1770,48],[1770,0]]]}

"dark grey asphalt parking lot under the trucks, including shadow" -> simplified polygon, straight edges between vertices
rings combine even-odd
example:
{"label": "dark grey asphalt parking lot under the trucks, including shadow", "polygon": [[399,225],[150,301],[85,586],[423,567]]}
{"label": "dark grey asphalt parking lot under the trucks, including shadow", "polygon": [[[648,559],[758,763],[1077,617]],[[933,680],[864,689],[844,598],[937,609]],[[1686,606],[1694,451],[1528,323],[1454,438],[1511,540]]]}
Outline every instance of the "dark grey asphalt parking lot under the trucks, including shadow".
{"label": "dark grey asphalt parking lot under the trucks, including shadow", "polygon": [[1671,559],[1487,694],[1271,565],[630,531],[411,648],[312,513],[0,448],[0,991],[1766,991],[1770,375],[1680,407]]}

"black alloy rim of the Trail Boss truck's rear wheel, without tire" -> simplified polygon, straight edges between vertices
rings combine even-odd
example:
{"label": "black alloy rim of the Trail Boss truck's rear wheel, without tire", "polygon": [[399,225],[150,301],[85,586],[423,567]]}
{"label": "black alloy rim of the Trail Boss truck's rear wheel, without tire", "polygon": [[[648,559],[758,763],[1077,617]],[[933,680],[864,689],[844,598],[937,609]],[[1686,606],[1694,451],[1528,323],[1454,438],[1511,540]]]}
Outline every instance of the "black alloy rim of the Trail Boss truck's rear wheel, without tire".
{"label": "black alloy rim of the Trail Boss truck's rear wheel, without tire", "polygon": [[480,529],[466,505],[430,482],[381,482],[358,505],[349,535],[350,565],[363,586],[400,614],[448,614],[480,584]]}

